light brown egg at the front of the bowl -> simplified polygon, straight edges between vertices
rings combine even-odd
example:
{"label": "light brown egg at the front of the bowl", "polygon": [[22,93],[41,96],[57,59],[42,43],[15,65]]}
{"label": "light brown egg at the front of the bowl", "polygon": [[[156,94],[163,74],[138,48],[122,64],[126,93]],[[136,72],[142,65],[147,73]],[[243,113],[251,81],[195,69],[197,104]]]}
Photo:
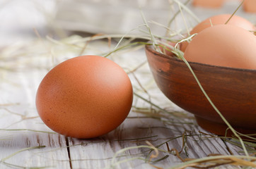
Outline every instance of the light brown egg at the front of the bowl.
{"label": "light brown egg at the front of the bowl", "polygon": [[208,27],[187,45],[187,61],[256,69],[256,37],[234,25]]}

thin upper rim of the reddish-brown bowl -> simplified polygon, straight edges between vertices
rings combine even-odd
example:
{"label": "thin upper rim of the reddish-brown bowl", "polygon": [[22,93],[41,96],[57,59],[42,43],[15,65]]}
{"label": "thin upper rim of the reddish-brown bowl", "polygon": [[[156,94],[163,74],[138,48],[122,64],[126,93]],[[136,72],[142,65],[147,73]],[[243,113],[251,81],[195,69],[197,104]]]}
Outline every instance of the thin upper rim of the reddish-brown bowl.
{"label": "thin upper rim of the reddish-brown bowl", "polygon": [[[175,61],[180,61],[182,63],[185,63],[184,61],[182,61],[182,59],[175,57],[175,56],[168,56],[165,54],[162,54],[158,51],[156,51],[155,49],[153,49],[153,45],[152,44],[146,44],[145,46],[147,51],[150,51],[151,53],[154,53],[158,56],[161,56],[163,58],[168,58],[168,59],[173,59]],[[256,69],[245,69],[245,68],[232,68],[232,67],[228,67],[228,66],[221,66],[221,65],[209,65],[206,63],[198,63],[198,62],[192,62],[192,61],[187,61],[188,63],[190,63],[190,65],[202,65],[205,67],[211,67],[211,68],[220,68],[223,70],[234,70],[234,71],[240,71],[240,72],[249,72],[249,73],[256,73]]]}

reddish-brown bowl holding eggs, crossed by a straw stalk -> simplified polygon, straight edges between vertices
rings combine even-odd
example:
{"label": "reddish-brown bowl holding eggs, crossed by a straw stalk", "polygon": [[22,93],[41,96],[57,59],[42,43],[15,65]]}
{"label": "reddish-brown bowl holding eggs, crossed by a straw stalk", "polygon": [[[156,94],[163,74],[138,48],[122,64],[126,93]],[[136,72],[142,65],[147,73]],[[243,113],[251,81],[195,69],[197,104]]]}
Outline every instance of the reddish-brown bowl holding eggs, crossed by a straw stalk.
{"label": "reddish-brown bowl holding eggs, crossed by a straw stalk", "polygon": [[[205,130],[225,135],[226,124],[207,101],[187,65],[175,56],[160,54],[152,46],[145,50],[153,78],[163,94],[193,113]],[[243,134],[255,134],[256,70],[189,63],[206,94],[232,127]]]}

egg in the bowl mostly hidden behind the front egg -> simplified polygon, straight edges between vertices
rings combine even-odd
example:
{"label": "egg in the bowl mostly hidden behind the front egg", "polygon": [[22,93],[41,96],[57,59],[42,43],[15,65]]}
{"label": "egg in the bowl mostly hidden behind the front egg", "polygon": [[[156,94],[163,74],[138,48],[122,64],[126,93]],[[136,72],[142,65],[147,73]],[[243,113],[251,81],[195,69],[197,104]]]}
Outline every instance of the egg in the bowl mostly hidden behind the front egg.
{"label": "egg in the bowl mostly hidden behind the front egg", "polygon": [[[230,17],[231,17],[231,14],[221,14],[221,15],[211,16],[210,18],[207,18],[206,20],[196,25],[190,32],[190,35],[199,33],[205,28],[211,27],[212,25],[225,24]],[[245,30],[250,30],[250,31],[256,30],[256,27],[252,23],[250,23],[249,20],[246,20],[245,18],[242,18],[238,15],[233,15],[231,20],[229,20],[227,24],[242,27]],[[184,52],[185,49],[187,48],[187,44],[188,44],[187,42],[182,42],[180,44],[180,50]]]}

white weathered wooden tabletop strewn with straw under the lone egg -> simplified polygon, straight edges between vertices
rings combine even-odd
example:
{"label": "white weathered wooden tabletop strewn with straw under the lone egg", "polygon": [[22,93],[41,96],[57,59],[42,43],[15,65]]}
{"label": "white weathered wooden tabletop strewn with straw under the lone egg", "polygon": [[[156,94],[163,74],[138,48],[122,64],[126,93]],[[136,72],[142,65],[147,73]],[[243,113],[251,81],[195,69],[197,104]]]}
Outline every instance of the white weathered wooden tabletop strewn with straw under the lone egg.
{"label": "white weathered wooden tabletop strewn with straw under the lone egg", "polygon": [[[185,158],[243,154],[166,99],[153,81],[143,48],[110,56],[129,73],[135,93],[133,108],[120,127],[94,139],[50,130],[37,115],[35,93],[49,68],[80,54],[81,48],[64,44],[71,38],[62,44],[38,37],[10,46],[1,43],[0,168],[173,168]],[[105,41],[92,42],[83,54],[103,54],[106,46]]]}

